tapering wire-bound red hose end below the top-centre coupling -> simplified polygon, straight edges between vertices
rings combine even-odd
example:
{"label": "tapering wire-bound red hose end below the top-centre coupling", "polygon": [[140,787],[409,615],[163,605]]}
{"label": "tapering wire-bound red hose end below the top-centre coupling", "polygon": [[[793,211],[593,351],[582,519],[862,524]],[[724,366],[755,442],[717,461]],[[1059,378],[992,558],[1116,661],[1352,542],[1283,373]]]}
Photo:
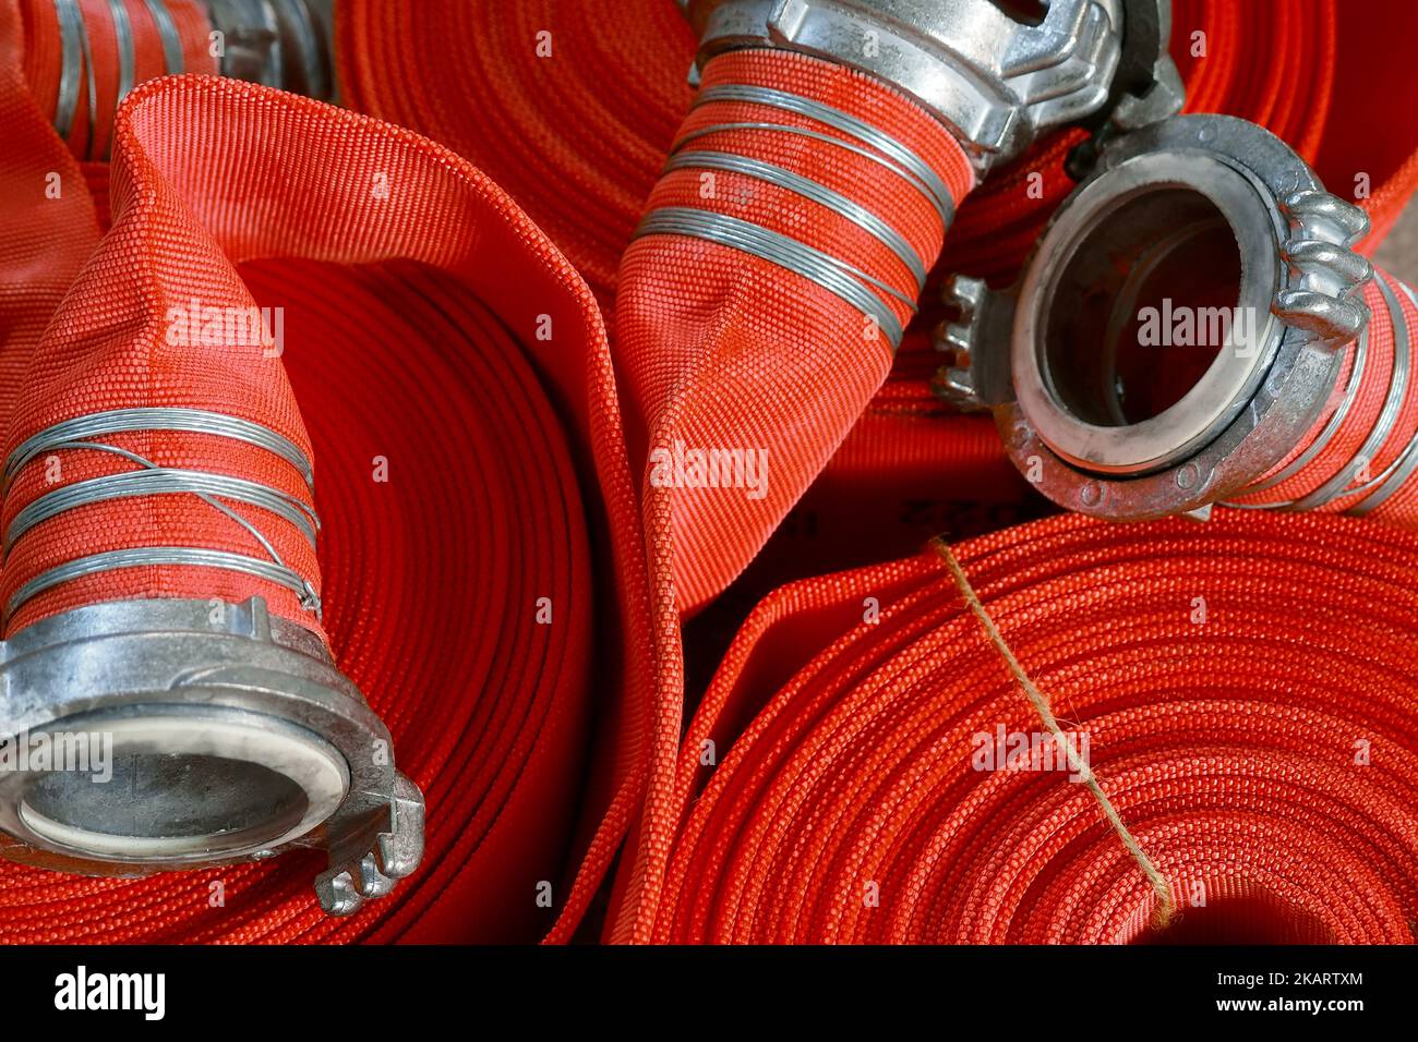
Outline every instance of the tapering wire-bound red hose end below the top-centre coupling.
{"label": "tapering wire-bound red hose end below the top-centre coupling", "polygon": [[[708,64],[621,264],[614,344],[632,458],[672,486],[681,607],[739,574],[861,415],[973,183],[875,79],[769,50]],[[686,451],[759,474],[681,475]]]}

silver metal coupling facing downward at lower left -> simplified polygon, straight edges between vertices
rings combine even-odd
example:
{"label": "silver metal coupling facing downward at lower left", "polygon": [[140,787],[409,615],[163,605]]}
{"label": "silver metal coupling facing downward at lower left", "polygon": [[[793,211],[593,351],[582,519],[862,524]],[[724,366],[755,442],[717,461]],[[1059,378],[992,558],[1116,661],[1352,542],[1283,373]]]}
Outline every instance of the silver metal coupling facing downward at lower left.
{"label": "silver metal coupling facing downward at lower left", "polygon": [[143,876],[323,851],[330,914],[423,858],[424,798],[309,629],[261,598],[74,608],[0,642],[0,856]]}

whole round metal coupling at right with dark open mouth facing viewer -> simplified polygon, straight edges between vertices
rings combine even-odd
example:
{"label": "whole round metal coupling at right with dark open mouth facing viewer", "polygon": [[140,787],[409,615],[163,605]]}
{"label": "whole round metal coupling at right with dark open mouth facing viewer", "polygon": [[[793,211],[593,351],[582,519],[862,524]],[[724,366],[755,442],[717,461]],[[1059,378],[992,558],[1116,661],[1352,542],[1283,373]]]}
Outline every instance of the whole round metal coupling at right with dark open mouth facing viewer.
{"label": "whole round metal coupling at right with dark open mouth facing viewer", "polygon": [[[950,282],[960,316],[937,347],[954,363],[936,388],[993,410],[1014,464],[1061,506],[1207,516],[1297,474],[1349,411],[1373,276],[1351,247],[1367,230],[1360,208],[1246,121],[1176,116],[1115,136],[1012,288]],[[1397,431],[1408,383],[1390,303],[1402,343],[1375,437]],[[1357,492],[1349,476],[1324,485]]]}

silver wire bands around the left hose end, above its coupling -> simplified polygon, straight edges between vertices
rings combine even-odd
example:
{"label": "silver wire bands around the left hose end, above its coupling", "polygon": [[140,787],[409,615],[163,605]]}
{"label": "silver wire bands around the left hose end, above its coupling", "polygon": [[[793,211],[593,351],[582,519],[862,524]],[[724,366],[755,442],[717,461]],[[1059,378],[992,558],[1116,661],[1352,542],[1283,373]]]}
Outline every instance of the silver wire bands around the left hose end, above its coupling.
{"label": "silver wire bands around the left hose end, above its coupling", "polygon": [[48,492],[26,505],[11,520],[4,533],[4,553],[9,556],[14,544],[35,525],[50,520],[67,510],[91,503],[108,502],[128,496],[191,493],[204,503],[225,515],[251,534],[271,556],[261,560],[238,553],[210,550],[204,547],[133,547],[91,554],[65,561],[24,583],[6,604],[6,614],[14,612],[30,598],[75,578],[95,576],[113,568],[143,566],[190,566],[244,571],[257,578],[278,583],[292,590],[301,598],[301,607],[322,618],[322,605],[315,584],[286,566],[281,554],[255,525],[240,513],[218,502],[234,499],[275,513],[294,525],[315,546],[319,530],[319,516],[313,508],[302,503],[279,489],[259,482],[245,481],[223,474],[183,471],[159,466],[136,452],[92,441],[94,437],[129,431],[186,431],[230,437],[250,445],[275,452],[295,466],[313,486],[313,472],[305,454],[288,438],[261,424],[237,417],[184,408],[133,408],[95,413],[54,424],[27,438],[6,461],[6,482],[14,481],[24,466],[43,452],[54,449],[89,449],[119,455],[146,469],[139,472],[113,474],[89,481],[75,482]]}

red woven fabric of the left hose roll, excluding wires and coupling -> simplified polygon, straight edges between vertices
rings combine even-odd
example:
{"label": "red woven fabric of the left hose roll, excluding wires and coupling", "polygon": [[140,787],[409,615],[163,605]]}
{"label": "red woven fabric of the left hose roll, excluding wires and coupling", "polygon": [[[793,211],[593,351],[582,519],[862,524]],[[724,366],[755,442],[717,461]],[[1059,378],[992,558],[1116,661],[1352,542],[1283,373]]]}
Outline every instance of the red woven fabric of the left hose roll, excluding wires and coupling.
{"label": "red woven fabric of the left hose roll, excluding wires and coupling", "polygon": [[[33,173],[7,174],[6,198],[43,197]],[[65,200],[75,197],[85,198],[79,190]],[[301,856],[123,882],[4,865],[0,939],[535,940],[556,910],[535,902],[539,883],[556,887],[557,909],[567,900],[562,866],[583,795],[593,618],[607,625],[601,668],[628,690],[647,683],[651,642],[590,292],[457,156],[234,81],[164,79],[130,95],[113,203],[112,233],[30,349],[11,431],[106,405],[111,394],[180,394],[217,411],[255,410],[303,445],[298,403],[318,461],[325,631],[427,794],[428,853],[393,897],[347,920],[318,909],[309,880],[319,866]],[[92,213],[47,214],[60,234],[72,218],[92,235]],[[284,308],[284,352],[173,347],[169,305],[191,298]],[[554,333],[537,340],[537,329]],[[11,350],[27,344],[7,339],[7,364]],[[586,449],[573,455],[569,431]],[[207,449],[200,438],[150,448]],[[72,455],[75,472],[94,465]],[[64,471],[68,481],[68,461]],[[579,491],[586,481],[598,488],[590,503]],[[136,502],[152,512],[149,533],[220,537],[200,502]],[[611,533],[617,578],[600,588],[587,513]],[[136,530],[105,515],[102,526],[45,522],[24,542],[78,553],[86,540]],[[138,570],[106,581],[57,595],[261,594],[309,625],[301,605],[235,574]],[[617,634],[634,654],[614,654]],[[611,771],[604,784],[617,781]]]}

